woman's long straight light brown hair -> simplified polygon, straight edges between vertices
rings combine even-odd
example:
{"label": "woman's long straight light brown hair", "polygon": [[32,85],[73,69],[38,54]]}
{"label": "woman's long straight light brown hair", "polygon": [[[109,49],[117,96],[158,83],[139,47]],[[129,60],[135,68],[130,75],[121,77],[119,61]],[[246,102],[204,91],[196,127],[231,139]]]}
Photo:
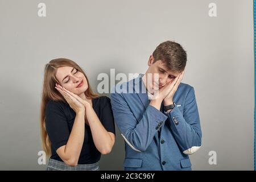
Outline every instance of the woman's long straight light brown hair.
{"label": "woman's long straight light brown hair", "polygon": [[44,70],[44,81],[43,81],[43,93],[42,93],[42,102],[41,102],[41,115],[40,115],[40,127],[41,127],[41,137],[42,137],[42,146],[43,150],[46,152],[46,155],[51,155],[51,141],[49,140],[47,131],[46,131],[46,105],[50,100],[53,101],[65,101],[64,97],[55,89],[55,84],[60,84],[56,78],[57,68],[60,67],[72,67],[76,68],[78,71],[84,74],[87,82],[88,89],[85,91],[85,96],[87,98],[96,98],[99,97],[98,94],[92,92],[90,88],[88,77],[85,75],[82,68],[79,67],[74,61],[59,58],[53,59],[46,64]]}

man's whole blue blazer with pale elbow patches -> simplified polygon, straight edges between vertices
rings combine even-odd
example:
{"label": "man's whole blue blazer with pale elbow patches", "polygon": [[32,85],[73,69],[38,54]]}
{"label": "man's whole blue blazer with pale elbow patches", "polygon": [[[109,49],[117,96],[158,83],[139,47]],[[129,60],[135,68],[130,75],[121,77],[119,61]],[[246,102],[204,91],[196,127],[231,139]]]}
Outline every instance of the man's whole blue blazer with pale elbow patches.
{"label": "man's whole blue blazer with pale elbow patches", "polygon": [[[117,84],[111,103],[115,123],[125,140],[125,170],[191,170],[190,154],[201,147],[195,91],[180,83],[170,113],[149,105],[142,81]],[[162,104],[163,107],[163,104]]]}

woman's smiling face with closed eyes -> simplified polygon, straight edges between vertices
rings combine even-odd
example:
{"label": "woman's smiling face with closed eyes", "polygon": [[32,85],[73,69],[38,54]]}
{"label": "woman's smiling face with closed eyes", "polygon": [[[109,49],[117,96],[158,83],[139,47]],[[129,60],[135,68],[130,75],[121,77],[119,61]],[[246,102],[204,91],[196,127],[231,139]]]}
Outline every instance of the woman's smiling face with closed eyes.
{"label": "woman's smiling face with closed eyes", "polygon": [[78,96],[88,89],[87,80],[84,74],[76,68],[60,67],[57,69],[56,78],[61,86]]}

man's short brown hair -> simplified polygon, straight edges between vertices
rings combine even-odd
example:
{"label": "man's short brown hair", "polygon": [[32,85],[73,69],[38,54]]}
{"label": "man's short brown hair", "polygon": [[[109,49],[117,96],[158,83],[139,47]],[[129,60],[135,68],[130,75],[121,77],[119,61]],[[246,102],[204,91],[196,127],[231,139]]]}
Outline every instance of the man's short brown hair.
{"label": "man's short brown hair", "polygon": [[154,62],[162,60],[170,71],[182,72],[187,63],[187,53],[176,42],[170,40],[160,43],[153,52]]}

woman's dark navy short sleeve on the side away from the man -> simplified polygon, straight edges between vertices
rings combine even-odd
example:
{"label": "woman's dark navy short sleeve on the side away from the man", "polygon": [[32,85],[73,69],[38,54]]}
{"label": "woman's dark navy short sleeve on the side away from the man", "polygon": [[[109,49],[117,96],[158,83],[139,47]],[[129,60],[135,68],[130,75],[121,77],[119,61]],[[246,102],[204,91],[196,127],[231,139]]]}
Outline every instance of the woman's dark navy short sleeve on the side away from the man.
{"label": "woman's dark navy short sleeve on the side away from the man", "polygon": [[46,106],[46,131],[53,150],[67,144],[69,127],[60,101],[49,101]]}

